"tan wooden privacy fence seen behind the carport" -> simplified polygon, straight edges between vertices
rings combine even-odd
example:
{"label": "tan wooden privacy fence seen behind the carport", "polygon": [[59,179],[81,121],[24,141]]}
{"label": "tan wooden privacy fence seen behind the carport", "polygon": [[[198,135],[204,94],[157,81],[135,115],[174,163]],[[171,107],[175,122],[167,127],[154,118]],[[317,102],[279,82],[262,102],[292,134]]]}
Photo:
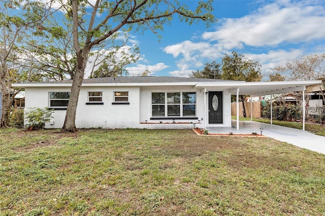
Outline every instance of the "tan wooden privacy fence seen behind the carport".
{"label": "tan wooden privacy fence seen behind the carport", "polygon": [[[250,118],[250,111],[252,110],[252,116],[253,118],[259,119],[261,118],[262,113],[262,104],[261,101],[253,101],[252,102],[252,108],[250,102],[245,102],[245,110],[246,110],[246,117]],[[237,103],[232,102],[232,116],[237,115]],[[239,117],[244,117],[243,115],[243,104],[242,102],[239,102]]]}

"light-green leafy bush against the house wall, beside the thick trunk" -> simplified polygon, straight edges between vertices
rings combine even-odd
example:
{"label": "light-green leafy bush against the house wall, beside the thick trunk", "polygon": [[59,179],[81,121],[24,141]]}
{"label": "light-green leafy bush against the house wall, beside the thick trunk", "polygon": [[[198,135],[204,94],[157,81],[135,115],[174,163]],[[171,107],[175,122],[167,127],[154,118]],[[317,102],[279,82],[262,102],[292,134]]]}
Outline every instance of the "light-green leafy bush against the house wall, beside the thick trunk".
{"label": "light-green leafy bush against the house wall, beside the thick trunk", "polygon": [[32,130],[44,129],[45,123],[50,122],[53,109],[48,107],[32,107],[25,114],[26,126]]}

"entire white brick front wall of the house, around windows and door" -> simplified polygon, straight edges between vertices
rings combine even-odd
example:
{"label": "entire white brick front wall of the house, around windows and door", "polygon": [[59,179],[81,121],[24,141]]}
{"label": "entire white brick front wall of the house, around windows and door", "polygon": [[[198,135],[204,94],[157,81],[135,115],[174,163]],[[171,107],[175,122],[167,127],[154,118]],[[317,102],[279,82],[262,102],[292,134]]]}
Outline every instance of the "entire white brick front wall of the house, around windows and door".
{"label": "entire white brick front wall of the house, around windows and door", "polygon": [[[26,88],[25,89],[25,111],[29,107],[49,106],[48,92],[70,91],[70,88]],[[102,91],[104,104],[87,105],[87,92]],[[112,104],[114,91],[128,91],[129,104]],[[212,91],[212,90],[210,90]],[[204,127],[204,90],[188,86],[167,86],[167,87],[82,87],[78,100],[76,113],[76,126],[78,128],[148,128],[148,129],[184,129],[193,128],[190,122],[198,123],[198,120],[175,120],[176,123],[187,124],[140,124],[146,120],[148,123],[172,123],[173,120],[150,120],[151,118],[151,92],[196,92],[197,116],[201,124],[197,127]],[[208,95],[206,95],[208,110]],[[66,116],[66,110],[55,110],[54,118],[46,124],[46,128],[61,128]],[[223,92],[223,124],[208,124],[207,127],[231,127],[231,94]]]}

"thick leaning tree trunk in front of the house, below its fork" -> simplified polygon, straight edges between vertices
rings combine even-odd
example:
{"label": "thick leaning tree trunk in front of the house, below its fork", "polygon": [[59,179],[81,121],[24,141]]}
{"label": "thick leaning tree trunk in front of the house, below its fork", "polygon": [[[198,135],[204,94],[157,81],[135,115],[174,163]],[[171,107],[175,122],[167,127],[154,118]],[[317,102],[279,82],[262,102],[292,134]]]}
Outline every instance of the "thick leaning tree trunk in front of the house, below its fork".
{"label": "thick leaning tree trunk in front of the house, below its fork", "polygon": [[86,63],[88,60],[87,56],[89,54],[89,51],[90,50],[86,50],[86,51],[80,50],[79,53],[77,53],[77,62],[78,62],[77,70],[71,86],[66,119],[64,119],[64,123],[61,128],[61,131],[64,132],[77,131],[75,120],[76,120],[76,113],[77,113],[78,98],[79,98],[79,93],[80,93],[80,89],[81,89],[81,85],[85,73]]}

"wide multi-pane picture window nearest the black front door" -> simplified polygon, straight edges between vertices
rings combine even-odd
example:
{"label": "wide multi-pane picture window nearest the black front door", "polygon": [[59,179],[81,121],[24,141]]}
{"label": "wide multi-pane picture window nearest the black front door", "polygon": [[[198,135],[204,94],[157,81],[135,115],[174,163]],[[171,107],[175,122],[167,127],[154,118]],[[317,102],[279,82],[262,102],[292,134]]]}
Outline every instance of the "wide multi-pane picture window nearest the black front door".
{"label": "wide multi-pane picture window nearest the black front door", "polygon": [[196,92],[152,92],[151,105],[153,117],[195,117]]}

